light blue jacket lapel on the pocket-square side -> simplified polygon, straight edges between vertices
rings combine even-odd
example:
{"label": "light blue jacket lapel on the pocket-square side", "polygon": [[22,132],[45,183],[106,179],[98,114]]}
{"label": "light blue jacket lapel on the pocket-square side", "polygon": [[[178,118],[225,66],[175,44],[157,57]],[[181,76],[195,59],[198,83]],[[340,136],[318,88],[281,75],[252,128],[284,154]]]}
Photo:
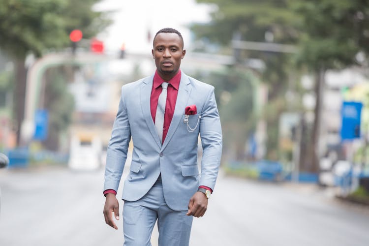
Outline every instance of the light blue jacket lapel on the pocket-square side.
{"label": "light blue jacket lapel on the pocket-square side", "polygon": [[[168,142],[173,137],[174,132],[176,131],[178,125],[180,124],[183,115],[184,115],[184,109],[186,107],[186,103],[189,98],[189,94],[191,92],[191,82],[189,81],[189,78],[187,75],[182,72],[181,75],[181,82],[180,86],[178,88],[178,94],[177,94],[177,101],[176,101],[176,107],[174,109],[174,114],[172,118],[172,122],[170,123],[168,133],[165,137],[163,146],[161,147],[161,150],[164,150],[164,148],[168,145]],[[157,135],[157,134],[156,134]]]}

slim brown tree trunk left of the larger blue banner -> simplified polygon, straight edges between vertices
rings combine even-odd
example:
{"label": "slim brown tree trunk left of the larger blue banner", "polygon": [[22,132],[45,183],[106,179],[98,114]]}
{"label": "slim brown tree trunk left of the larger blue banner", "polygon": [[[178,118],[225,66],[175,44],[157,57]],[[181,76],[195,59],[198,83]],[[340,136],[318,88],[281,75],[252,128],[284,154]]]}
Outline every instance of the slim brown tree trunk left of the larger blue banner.
{"label": "slim brown tree trunk left of the larger blue banner", "polygon": [[322,111],[322,92],[324,88],[325,69],[321,67],[315,75],[315,109],[314,109],[314,123],[312,128],[311,152],[312,161],[307,170],[313,173],[319,171],[319,137]]}

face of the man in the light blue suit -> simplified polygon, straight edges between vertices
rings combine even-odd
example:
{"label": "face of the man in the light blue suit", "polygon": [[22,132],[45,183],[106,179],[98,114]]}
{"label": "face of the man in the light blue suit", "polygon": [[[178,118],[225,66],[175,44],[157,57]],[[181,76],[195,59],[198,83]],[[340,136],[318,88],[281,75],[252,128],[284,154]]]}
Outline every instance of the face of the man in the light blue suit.
{"label": "face of the man in the light blue suit", "polygon": [[161,32],[154,39],[152,53],[159,75],[169,80],[177,74],[186,51],[177,33]]}

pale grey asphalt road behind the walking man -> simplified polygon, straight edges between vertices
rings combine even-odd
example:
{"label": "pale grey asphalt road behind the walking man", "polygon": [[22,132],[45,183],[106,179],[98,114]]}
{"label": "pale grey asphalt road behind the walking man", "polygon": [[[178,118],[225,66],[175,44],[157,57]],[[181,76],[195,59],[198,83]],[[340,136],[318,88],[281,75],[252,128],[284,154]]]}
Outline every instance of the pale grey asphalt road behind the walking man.
{"label": "pale grey asphalt road behind the walking man", "polygon": [[[103,170],[1,170],[0,245],[123,245],[122,219],[118,231],[104,222],[102,184]],[[330,191],[220,175],[207,213],[194,219],[190,245],[368,246],[368,232],[369,208],[339,202]]]}

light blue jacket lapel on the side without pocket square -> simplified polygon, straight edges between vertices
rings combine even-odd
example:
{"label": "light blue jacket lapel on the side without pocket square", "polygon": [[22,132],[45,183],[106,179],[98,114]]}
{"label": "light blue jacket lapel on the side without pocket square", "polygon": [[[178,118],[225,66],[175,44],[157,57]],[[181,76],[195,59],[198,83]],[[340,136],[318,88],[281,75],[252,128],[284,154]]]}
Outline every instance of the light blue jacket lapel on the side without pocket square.
{"label": "light blue jacket lapel on the side without pocket square", "polygon": [[145,121],[147,123],[147,126],[151,132],[151,135],[153,135],[153,138],[156,144],[159,147],[161,147],[160,139],[159,139],[159,136],[157,135],[154,121],[151,116],[151,110],[150,110],[150,97],[151,97],[151,90],[153,88],[153,80],[154,80],[154,75],[144,79],[143,83],[141,84],[141,91],[140,91],[141,110],[145,118]]}

